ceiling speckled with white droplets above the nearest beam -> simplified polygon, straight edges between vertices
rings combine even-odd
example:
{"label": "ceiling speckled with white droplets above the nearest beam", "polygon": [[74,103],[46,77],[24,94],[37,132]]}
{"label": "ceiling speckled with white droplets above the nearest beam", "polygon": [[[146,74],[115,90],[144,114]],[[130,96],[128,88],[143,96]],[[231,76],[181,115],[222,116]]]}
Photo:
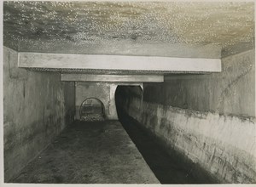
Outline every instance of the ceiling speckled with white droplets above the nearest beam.
{"label": "ceiling speckled with white droplets above the nearest beam", "polygon": [[4,2],[3,42],[23,52],[219,58],[236,46],[253,48],[253,8],[252,2]]}

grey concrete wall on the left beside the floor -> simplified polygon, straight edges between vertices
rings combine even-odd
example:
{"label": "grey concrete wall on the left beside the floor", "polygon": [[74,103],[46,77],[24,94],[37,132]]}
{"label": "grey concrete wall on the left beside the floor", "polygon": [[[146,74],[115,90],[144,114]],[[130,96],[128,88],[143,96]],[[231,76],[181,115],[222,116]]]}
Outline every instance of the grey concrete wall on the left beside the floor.
{"label": "grey concrete wall on the left beside the floor", "polygon": [[4,181],[20,172],[73,121],[74,83],[58,73],[17,68],[18,53],[3,48]]}

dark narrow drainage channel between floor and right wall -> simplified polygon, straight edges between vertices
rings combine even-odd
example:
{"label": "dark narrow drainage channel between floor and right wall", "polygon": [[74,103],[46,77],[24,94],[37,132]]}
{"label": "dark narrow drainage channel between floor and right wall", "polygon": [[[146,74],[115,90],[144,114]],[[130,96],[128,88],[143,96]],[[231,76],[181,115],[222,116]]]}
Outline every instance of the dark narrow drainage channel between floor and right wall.
{"label": "dark narrow drainage channel between floor and right wall", "polygon": [[212,178],[194,163],[186,161],[182,156],[171,156],[160,143],[140,127],[131,116],[119,111],[119,122],[144,160],[153,171],[161,184],[217,184],[218,180]]}

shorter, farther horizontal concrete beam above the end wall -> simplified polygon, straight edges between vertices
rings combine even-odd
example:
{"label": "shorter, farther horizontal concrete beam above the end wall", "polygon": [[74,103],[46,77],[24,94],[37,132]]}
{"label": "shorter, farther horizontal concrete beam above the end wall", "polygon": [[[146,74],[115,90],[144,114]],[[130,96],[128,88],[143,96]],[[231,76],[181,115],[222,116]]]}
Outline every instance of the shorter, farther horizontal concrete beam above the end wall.
{"label": "shorter, farther horizontal concrete beam above the end wall", "polygon": [[163,76],[61,74],[61,81],[74,82],[164,82]]}

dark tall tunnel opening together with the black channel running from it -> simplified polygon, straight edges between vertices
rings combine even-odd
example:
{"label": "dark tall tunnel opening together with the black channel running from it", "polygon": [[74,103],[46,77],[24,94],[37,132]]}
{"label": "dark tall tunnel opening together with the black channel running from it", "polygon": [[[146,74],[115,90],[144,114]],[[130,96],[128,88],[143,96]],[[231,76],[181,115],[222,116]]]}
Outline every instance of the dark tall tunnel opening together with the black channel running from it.
{"label": "dark tall tunnel opening together with the black channel running from it", "polygon": [[136,103],[133,99],[141,100],[142,110],[143,90],[139,86],[118,86],[115,92],[116,108],[119,122],[129,134],[131,140],[136,144],[148,167],[153,171],[161,184],[216,184],[218,180],[206,173],[201,167],[192,161],[183,158],[178,153],[166,150],[165,145],[150,133],[146,127],[137,122],[127,114],[132,105]]}

